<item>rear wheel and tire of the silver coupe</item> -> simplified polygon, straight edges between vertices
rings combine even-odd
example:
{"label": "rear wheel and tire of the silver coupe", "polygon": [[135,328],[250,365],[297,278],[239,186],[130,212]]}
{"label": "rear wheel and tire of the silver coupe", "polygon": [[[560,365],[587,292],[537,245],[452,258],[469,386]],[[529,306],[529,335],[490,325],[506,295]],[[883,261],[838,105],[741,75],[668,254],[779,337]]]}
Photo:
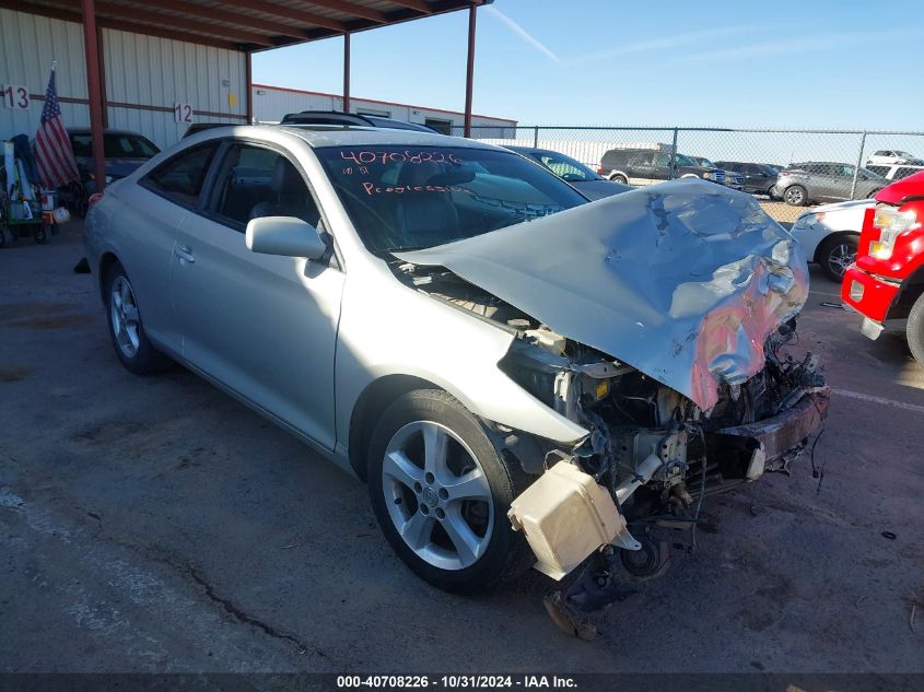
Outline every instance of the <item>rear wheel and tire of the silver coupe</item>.
{"label": "rear wheel and tire of the silver coupe", "polygon": [[106,274],[106,317],[109,339],[126,370],[136,375],[151,375],[172,365],[148,340],[134,289],[119,262]]}

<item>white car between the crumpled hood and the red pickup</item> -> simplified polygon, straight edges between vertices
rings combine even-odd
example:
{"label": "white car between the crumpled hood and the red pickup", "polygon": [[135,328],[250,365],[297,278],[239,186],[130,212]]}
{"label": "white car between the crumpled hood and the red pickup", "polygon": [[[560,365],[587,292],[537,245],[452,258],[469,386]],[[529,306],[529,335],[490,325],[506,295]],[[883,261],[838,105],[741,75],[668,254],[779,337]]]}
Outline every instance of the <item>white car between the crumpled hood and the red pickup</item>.
{"label": "white car between the crumpled hood and the red pickup", "polygon": [[872,199],[822,204],[796,219],[790,233],[805,249],[808,261],[816,262],[831,281],[842,281],[856,259],[859,232]]}

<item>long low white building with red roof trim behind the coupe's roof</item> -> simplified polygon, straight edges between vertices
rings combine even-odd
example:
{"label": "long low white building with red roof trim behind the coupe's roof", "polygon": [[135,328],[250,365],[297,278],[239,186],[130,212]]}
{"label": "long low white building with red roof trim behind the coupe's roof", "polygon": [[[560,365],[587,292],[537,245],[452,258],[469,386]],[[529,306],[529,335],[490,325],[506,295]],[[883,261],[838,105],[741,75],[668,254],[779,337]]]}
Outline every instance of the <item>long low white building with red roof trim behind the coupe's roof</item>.
{"label": "long low white building with red roof trim behind the coupe's roof", "polygon": [[[250,92],[254,104],[254,119],[258,122],[279,122],[286,113],[301,110],[343,110],[343,97],[339,94],[309,92],[299,89],[254,84]],[[413,106],[390,101],[350,96],[350,113],[397,118],[409,122],[429,125],[441,131],[461,134],[465,114],[429,106]],[[515,137],[516,120],[491,116],[471,116],[472,127],[490,127],[493,137]],[[499,128],[494,130],[493,128]]]}

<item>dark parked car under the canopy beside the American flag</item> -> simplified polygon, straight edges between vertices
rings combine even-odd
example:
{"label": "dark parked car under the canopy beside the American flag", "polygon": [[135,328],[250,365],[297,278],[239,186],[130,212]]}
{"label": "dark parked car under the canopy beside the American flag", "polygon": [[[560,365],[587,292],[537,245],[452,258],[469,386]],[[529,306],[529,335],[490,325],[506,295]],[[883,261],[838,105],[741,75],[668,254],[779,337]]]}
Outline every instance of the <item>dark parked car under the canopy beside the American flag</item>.
{"label": "dark parked car under the canopy beside the American flag", "polygon": [[[68,128],[80,184],[61,188],[59,199],[78,215],[86,213],[90,196],[96,191],[96,174],[93,164],[93,136],[90,128]],[[106,184],[133,173],[161,152],[147,137],[129,130],[105,130],[103,132],[103,155],[106,157]]]}

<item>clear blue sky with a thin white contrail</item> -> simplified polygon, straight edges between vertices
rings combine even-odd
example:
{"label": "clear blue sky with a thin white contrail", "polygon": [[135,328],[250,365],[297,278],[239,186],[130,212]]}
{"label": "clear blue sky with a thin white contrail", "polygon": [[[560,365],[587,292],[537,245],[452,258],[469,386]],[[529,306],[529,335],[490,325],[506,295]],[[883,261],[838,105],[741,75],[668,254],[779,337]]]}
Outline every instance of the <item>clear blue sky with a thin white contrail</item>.
{"label": "clear blue sky with a thin white contrail", "polygon": [[[467,12],[355,34],[352,94],[465,101]],[[522,125],[924,129],[920,0],[496,0],[475,112]],[[257,54],[254,81],[340,93],[342,39]]]}

